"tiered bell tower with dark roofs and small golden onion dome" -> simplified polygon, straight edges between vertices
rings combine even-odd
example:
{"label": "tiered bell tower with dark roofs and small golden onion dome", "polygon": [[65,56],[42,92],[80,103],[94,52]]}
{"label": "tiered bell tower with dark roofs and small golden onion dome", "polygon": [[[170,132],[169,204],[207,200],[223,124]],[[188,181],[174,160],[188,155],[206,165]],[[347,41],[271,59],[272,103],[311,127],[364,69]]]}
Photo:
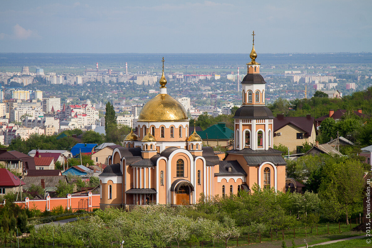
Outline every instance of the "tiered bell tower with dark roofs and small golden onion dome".
{"label": "tiered bell tower with dark roofs and small golden onion dome", "polygon": [[237,150],[267,150],[273,147],[274,116],[265,104],[266,82],[260,74],[260,64],[256,62],[254,31],[252,36],[252,51],[249,54],[251,61],[247,63],[247,75],[241,81],[242,105],[234,115],[234,149]]}

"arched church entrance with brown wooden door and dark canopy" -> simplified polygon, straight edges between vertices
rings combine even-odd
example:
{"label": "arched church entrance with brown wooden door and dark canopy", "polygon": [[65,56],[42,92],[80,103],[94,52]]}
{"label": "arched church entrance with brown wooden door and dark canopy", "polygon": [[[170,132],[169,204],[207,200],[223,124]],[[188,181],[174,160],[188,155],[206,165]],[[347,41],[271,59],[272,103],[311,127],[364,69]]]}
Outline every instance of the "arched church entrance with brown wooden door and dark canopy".
{"label": "arched church entrance with brown wooden door and dark canopy", "polygon": [[170,191],[174,193],[173,204],[177,205],[189,205],[190,199],[192,199],[192,191],[194,191],[194,186],[185,179],[177,179],[171,185]]}

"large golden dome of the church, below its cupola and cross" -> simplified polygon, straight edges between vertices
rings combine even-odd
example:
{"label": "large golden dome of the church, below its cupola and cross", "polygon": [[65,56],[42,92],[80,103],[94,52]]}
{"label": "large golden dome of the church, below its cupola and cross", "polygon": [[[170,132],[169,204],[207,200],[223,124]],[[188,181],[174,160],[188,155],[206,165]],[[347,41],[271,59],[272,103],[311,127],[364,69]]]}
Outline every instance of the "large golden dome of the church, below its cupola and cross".
{"label": "large golden dome of the church, below its cupola and cross", "polygon": [[148,101],[138,116],[140,122],[186,121],[187,113],[180,102],[168,94],[158,94]]}

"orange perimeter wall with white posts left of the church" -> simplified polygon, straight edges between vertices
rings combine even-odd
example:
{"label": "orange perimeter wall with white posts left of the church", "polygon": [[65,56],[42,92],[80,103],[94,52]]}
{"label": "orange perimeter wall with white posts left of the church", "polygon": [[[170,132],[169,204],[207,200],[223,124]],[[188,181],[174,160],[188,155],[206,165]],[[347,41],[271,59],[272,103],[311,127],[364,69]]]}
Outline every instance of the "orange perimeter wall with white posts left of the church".
{"label": "orange perimeter wall with white posts left of the church", "polygon": [[[35,199],[35,200],[29,200],[28,202],[15,202],[17,205],[20,207],[28,207],[29,209],[38,209],[41,212],[44,212],[46,207],[47,207],[47,202],[48,202],[48,207],[49,210],[53,210],[55,208],[59,208],[62,206],[63,209],[68,208],[70,205],[70,208],[72,210],[79,209],[79,203],[80,200],[88,200],[89,196],[71,196],[70,199],[68,198],[50,198],[49,201],[46,199]],[[92,194],[91,197],[91,205],[92,207],[85,206],[86,208],[89,208],[89,211],[92,211],[93,208],[98,208],[100,203],[100,195],[99,194]],[[81,209],[81,206],[80,206]]]}

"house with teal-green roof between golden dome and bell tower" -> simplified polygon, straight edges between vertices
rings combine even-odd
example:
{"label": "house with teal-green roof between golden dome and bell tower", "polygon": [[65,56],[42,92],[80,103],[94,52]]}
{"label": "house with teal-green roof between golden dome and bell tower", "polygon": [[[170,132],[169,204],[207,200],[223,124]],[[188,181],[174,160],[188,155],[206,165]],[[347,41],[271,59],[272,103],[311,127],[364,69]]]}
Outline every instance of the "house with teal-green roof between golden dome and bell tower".
{"label": "house with teal-green roof between golden dome and bell tower", "polygon": [[[193,129],[192,127],[190,129]],[[234,139],[234,131],[226,127],[226,123],[219,122],[201,132],[196,132],[208,146],[229,146]]]}

